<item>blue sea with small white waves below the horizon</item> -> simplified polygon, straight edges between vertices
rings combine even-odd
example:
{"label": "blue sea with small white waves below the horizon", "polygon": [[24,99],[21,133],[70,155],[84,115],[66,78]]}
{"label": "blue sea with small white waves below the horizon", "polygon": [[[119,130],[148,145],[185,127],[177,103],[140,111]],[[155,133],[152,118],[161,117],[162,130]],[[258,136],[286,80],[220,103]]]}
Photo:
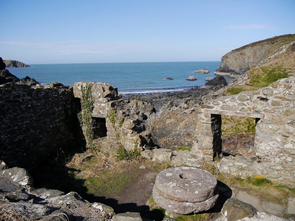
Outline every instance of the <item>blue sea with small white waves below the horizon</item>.
{"label": "blue sea with small white waves below the horizon", "polygon": [[[42,85],[53,81],[64,85],[81,81],[102,81],[118,88],[119,93],[127,94],[181,91],[202,86],[206,83],[206,77],[215,77],[214,70],[219,65],[219,61],[32,64],[30,68],[8,70],[18,78],[29,76]],[[208,69],[210,73],[193,72],[203,68]],[[194,76],[197,80],[186,80],[189,76]],[[166,77],[174,80],[167,80]]]}

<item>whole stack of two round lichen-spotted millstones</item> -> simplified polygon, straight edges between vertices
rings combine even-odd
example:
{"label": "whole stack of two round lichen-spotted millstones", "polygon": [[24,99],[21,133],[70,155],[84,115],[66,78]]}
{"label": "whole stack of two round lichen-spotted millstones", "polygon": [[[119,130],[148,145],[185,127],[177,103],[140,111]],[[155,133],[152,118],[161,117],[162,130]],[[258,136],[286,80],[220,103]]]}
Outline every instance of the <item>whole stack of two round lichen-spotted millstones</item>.
{"label": "whole stack of two round lichen-spotted millstones", "polygon": [[156,177],[153,198],[165,210],[180,214],[209,210],[218,198],[217,180],[194,167],[165,169]]}

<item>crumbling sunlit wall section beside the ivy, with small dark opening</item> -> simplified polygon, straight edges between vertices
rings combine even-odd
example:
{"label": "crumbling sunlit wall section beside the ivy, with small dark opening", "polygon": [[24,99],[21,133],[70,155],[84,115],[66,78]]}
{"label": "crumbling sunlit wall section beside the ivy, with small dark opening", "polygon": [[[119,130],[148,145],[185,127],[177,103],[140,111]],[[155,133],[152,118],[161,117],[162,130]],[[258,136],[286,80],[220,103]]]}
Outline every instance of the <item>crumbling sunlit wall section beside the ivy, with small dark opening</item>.
{"label": "crumbling sunlit wall section beside the ivy, with small dark opening", "polygon": [[[119,145],[127,151],[139,148],[140,150],[153,147],[150,134],[145,131],[144,120],[155,109],[153,105],[141,101],[127,101],[118,97],[117,88],[106,83],[78,82],[74,84],[73,93],[81,99],[81,85],[91,85],[91,94],[94,99],[93,118],[105,118],[106,137],[96,138],[97,148],[106,153],[116,154]],[[113,109],[114,108],[114,109]],[[116,122],[107,117],[108,112],[115,110]]]}

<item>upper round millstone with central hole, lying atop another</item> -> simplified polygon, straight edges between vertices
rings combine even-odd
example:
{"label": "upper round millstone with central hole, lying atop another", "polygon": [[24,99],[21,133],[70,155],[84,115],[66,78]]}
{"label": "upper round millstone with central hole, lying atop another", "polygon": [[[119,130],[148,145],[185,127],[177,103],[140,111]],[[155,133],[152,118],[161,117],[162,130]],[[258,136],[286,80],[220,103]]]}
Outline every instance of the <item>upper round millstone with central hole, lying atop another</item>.
{"label": "upper round millstone with central hole, lying atop another", "polygon": [[194,167],[161,171],[155,181],[157,192],[179,202],[203,202],[218,193],[217,180],[209,172]]}

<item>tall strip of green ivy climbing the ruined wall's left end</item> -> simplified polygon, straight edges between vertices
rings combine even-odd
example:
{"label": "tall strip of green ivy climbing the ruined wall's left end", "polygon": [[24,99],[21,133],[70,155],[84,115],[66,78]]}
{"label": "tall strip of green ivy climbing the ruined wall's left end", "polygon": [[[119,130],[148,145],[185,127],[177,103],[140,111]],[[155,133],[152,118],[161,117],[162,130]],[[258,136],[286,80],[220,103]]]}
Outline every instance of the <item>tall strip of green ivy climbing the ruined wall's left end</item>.
{"label": "tall strip of green ivy climbing the ruined wall's left end", "polygon": [[91,85],[89,84],[86,87],[81,85],[81,109],[81,112],[78,113],[78,120],[86,138],[86,149],[93,151],[95,145],[93,143],[91,114],[94,109],[94,99],[92,98]]}

